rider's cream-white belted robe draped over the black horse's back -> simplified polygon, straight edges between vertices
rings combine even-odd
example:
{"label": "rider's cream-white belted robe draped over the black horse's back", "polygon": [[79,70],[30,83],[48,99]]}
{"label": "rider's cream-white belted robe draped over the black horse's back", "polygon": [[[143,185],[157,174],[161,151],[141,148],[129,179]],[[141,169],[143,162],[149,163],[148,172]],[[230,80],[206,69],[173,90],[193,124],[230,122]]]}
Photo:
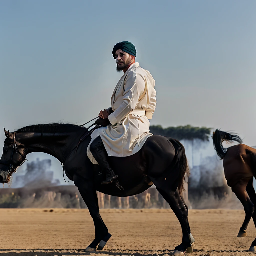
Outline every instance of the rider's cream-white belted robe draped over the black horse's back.
{"label": "rider's cream-white belted robe draped over the black horse's back", "polygon": [[[109,156],[130,156],[137,153],[147,138],[152,136],[148,119],[156,108],[155,80],[150,72],[135,62],[125,72],[115,87],[111,98],[110,125],[95,130],[92,141],[101,136]],[[93,164],[98,164],[90,152]]]}

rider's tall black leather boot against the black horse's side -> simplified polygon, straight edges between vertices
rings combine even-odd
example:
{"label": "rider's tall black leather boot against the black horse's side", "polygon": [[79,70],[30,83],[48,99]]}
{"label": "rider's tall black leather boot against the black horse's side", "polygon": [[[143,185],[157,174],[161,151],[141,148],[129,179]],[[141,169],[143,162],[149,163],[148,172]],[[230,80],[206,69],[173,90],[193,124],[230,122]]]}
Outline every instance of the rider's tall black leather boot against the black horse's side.
{"label": "rider's tall black leather boot against the black horse's side", "polygon": [[102,169],[106,172],[106,180],[103,181],[101,184],[109,184],[112,183],[118,176],[115,175],[114,171],[109,165],[108,162],[108,153],[104,147],[104,144],[101,140],[101,137],[98,136],[91,144],[90,150],[92,152],[93,157],[98,162],[98,164],[102,167]]}

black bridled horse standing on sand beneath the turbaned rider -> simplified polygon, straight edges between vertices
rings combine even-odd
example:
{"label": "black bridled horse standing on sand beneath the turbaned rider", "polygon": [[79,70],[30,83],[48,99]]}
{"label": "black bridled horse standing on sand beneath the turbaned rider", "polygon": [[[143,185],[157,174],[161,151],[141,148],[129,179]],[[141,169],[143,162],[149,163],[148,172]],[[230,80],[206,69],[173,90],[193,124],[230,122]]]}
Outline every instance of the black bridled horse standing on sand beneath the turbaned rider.
{"label": "black bridled horse standing on sand beneath the turbaned rider", "polygon": [[13,133],[5,130],[0,182],[8,183],[29,153],[44,152],[56,157],[65,165],[67,177],[78,187],[94,221],[95,239],[86,251],[96,251],[98,245],[98,250],[102,250],[111,237],[100,216],[96,191],[118,197],[132,196],[142,193],[154,183],[182,227],[182,243],[175,248],[174,255],[192,252],[195,240],[188,223],[188,207],[182,197],[184,178],[189,175],[183,145],[172,138],[153,135],[138,153],[128,157],[110,157],[110,164],[123,187],[120,190],[114,183],[101,185],[104,173],[87,157],[91,137],[81,140],[85,134],[89,134],[87,128],[72,124],[32,125]]}

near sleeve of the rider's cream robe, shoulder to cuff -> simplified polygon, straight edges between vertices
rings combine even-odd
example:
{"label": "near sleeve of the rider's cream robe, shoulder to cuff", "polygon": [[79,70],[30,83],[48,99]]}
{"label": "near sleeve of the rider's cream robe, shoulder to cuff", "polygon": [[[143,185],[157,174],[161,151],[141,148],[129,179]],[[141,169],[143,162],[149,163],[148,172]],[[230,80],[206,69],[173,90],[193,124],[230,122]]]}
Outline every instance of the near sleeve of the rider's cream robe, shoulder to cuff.
{"label": "near sleeve of the rider's cream robe, shoulder to cuff", "polygon": [[122,104],[109,115],[108,119],[110,123],[114,126],[121,123],[121,121],[131,113],[137,103],[140,95],[145,89],[145,80],[136,72],[129,72],[124,83],[124,93]]}

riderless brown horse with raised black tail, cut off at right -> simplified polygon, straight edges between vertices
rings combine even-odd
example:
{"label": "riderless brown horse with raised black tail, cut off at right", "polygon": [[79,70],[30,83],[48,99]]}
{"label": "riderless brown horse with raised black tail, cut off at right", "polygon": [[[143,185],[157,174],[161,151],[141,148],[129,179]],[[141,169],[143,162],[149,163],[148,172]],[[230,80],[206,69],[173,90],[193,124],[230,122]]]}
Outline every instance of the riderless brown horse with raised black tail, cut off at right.
{"label": "riderless brown horse with raised black tail, cut off at right", "polygon": [[[253,188],[253,177],[256,177],[256,150],[247,145],[241,144],[242,139],[233,133],[226,133],[216,130],[213,133],[214,148],[218,156],[223,159],[223,167],[227,184],[232,188],[237,198],[241,201],[245,219],[237,237],[247,236],[247,227],[252,217],[256,227],[256,194]],[[224,141],[237,141],[240,144],[224,148]],[[252,242],[249,251],[255,251],[256,239]]]}

